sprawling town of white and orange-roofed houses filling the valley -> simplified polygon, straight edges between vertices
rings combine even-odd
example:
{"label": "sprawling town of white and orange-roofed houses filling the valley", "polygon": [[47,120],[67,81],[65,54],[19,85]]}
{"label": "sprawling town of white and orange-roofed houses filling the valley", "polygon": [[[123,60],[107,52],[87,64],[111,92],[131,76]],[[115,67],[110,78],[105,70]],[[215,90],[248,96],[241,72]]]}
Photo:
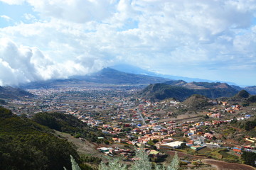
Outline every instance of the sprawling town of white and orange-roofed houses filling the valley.
{"label": "sprawling town of white and orange-roofed houses filling the valley", "polygon": [[141,89],[111,85],[28,89],[34,98],[12,99],[4,107],[28,118],[39,112],[73,115],[102,131],[95,148],[99,153],[122,156],[124,162],[133,161],[132,146],[142,143],[154,162],[174,155],[174,151],[183,153],[183,166],[202,164],[200,157],[239,162],[244,150],[256,153],[255,136],[235,135],[236,129],[231,126],[252,120],[256,106],[215,99],[208,101],[210,106],[195,110],[172,98],[139,98],[136,94]]}

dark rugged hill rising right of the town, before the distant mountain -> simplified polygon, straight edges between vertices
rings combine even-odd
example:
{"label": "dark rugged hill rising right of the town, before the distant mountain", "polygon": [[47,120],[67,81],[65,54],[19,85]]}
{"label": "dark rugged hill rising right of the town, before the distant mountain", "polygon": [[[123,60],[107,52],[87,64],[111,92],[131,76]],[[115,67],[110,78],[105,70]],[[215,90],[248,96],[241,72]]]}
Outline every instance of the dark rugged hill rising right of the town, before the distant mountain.
{"label": "dark rugged hill rising right of the town, before the distant mountain", "polygon": [[166,81],[165,84],[150,84],[139,92],[139,96],[153,100],[176,98],[179,101],[183,101],[193,94],[201,94],[208,98],[219,98],[231,97],[237,93],[236,89],[224,83]]}

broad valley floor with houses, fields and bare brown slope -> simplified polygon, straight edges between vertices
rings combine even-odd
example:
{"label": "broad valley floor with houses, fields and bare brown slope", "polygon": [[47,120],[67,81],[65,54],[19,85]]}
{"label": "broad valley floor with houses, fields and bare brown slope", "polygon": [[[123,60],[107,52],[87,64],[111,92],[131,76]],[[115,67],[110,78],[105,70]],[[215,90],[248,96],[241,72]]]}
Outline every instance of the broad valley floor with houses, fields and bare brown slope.
{"label": "broad valley floor with houses, fields and bare brown slope", "polygon": [[[171,152],[183,153],[182,169],[204,169],[215,164],[213,159],[242,164],[243,152],[255,152],[255,96],[240,91],[230,97],[191,94],[182,101],[155,100],[142,96],[150,86],[56,84],[26,89],[33,97],[4,99],[2,106],[57,130],[55,136],[76,145],[80,164],[92,169],[97,165],[82,157],[102,162],[107,162],[106,156],[122,157],[129,165],[140,143],[156,164],[168,164]],[[49,124],[52,121],[55,124]]]}

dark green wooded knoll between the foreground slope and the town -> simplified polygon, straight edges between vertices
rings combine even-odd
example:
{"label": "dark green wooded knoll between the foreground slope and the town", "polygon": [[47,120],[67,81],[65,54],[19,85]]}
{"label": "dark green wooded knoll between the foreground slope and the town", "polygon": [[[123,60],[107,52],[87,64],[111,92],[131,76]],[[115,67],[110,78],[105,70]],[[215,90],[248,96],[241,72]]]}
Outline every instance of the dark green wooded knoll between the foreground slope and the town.
{"label": "dark green wooded knoll between the foreground slope and the town", "polygon": [[62,113],[37,113],[32,120],[48,128],[73,134],[74,137],[83,137],[91,142],[102,142],[97,137],[104,137],[97,128],[90,128],[73,115]]}

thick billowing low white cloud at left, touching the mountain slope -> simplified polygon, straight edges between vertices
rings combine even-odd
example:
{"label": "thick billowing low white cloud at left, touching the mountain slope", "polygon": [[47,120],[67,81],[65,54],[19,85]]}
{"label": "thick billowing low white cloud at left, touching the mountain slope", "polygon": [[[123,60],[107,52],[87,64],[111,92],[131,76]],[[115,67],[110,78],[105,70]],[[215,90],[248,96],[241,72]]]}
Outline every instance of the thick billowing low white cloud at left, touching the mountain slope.
{"label": "thick billowing low white cloud at left, touching the mountain slope", "polygon": [[81,64],[80,60],[54,62],[36,47],[18,47],[8,39],[0,39],[0,86],[17,85],[46,79],[63,79],[101,69],[101,63]]}

